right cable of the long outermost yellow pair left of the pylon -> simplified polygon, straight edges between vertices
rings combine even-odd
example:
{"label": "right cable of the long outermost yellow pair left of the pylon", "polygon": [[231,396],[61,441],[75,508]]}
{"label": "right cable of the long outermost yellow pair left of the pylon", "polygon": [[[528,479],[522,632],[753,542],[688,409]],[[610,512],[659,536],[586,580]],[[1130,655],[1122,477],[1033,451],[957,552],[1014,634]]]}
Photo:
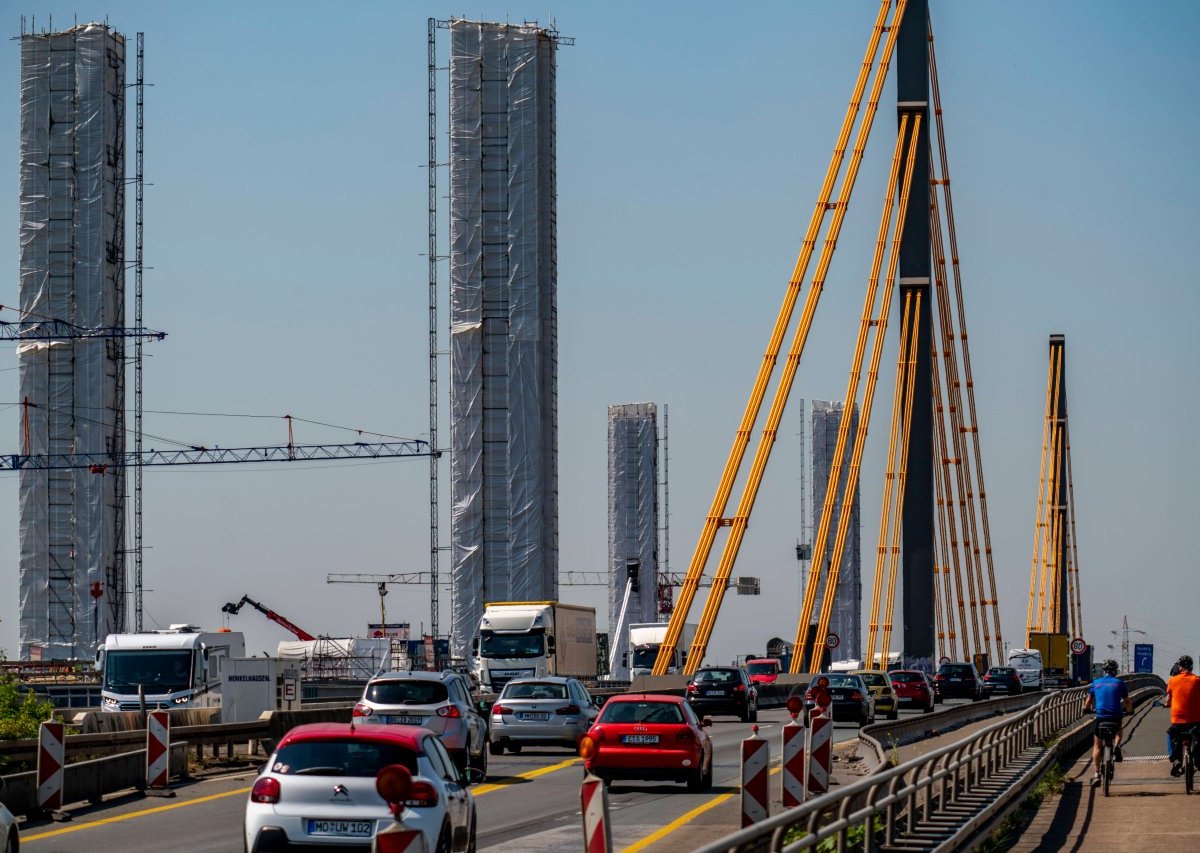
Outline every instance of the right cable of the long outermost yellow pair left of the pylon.
{"label": "right cable of the long outermost yellow pair left of the pylon", "polygon": [[[755,499],[758,495],[758,487],[762,483],[763,473],[766,471],[767,463],[770,459],[770,451],[775,444],[779,425],[784,419],[787,397],[791,394],[792,383],[796,379],[796,371],[799,368],[800,358],[804,354],[804,346],[808,341],[809,331],[812,328],[817,304],[821,300],[821,293],[824,290],[826,276],[829,272],[829,264],[833,260],[833,253],[838,246],[838,238],[841,234],[841,226],[846,218],[846,210],[850,206],[850,198],[854,190],[854,182],[858,179],[858,169],[862,166],[863,154],[866,150],[866,140],[871,134],[871,125],[875,121],[875,114],[878,109],[880,92],[883,89],[883,80],[887,77],[888,66],[892,61],[892,53],[899,32],[899,22],[904,14],[905,6],[906,0],[898,0],[895,17],[893,19],[892,28],[888,31],[888,38],[883,46],[883,54],[880,58],[880,67],[876,70],[875,84],[871,88],[871,95],[866,102],[866,112],[863,115],[863,122],[854,138],[854,149],[850,158],[850,164],[846,168],[846,176],[842,180],[841,194],[834,206],[833,221],[829,223],[829,230],[826,233],[824,244],[821,247],[821,258],[817,262],[817,269],[812,276],[812,283],[809,288],[808,298],[805,299],[804,312],[800,314],[800,322],[797,325],[796,335],[792,338],[792,347],[787,353],[787,360],[784,362],[784,372],[780,376],[779,385],[775,388],[775,397],[772,403],[770,412],[767,415],[767,422],[762,428],[758,449],[755,452],[750,473],[746,476],[742,500],[738,504],[736,515],[732,518],[724,519],[724,523],[731,528],[730,535],[728,539],[725,540],[725,548],[721,552],[721,559],[716,566],[716,575],[714,576],[712,588],[708,590],[708,601],[706,602],[704,612],[701,614],[700,621],[696,625],[696,636],[692,639],[691,650],[688,653],[688,661],[684,666],[684,672],[689,675],[701,665],[704,654],[708,650],[708,641],[712,636],[713,627],[716,624],[716,615],[720,612],[721,601],[725,597],[725,589],[730,575],[733,571],[733,565],[737,561],[738,551],[742,547],[742,540],[745,536],[746,527],[750,522],[750,513],[754,510]],[[658,666],[662,666],[665,668],[668,660],[670,659],[664,659],[662,651],[660,650],[655,671],[658,671]]]}

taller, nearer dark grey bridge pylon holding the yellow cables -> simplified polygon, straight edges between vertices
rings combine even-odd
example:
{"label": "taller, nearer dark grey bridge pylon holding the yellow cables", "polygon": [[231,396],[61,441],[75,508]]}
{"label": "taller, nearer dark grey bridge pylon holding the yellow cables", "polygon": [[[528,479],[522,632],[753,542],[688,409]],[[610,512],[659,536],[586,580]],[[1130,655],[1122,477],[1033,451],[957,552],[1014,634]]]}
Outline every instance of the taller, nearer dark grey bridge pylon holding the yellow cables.
{"label": "taller, nearer dark grey bridge pylon holding the yellow cables", "polygon": [[[916,380],[907,447],[901,553],[904,578],[904,653],[908,660],[935,654],[934,626],[934,397],[930,341],[932,332],[932,252],[929,232],[929,2],[908,0],[896,37],[898,120],[919,115],[912,190],[900,246],[900,305],[906,294],[920,294],[917,318]],[[901,182],[905,180],[900,175]],[[907,347],[906,342],[901,347]],[[906,355],[907,358],[907,355]]]}

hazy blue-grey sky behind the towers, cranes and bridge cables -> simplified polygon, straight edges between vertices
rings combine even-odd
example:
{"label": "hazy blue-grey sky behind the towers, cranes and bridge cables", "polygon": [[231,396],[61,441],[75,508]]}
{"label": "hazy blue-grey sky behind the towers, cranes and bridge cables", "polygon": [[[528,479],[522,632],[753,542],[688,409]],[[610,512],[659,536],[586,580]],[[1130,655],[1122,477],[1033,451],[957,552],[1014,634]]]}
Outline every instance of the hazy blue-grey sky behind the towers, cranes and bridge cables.
{"label": "hazy blue-grey sky behind the towers, cranes and bridge cables", "polygon": [[[1003,632],[1016,641],[1025,630],[1046,342],[1062,332],[1085,635],[1103,655],[1128,614],[1148,635],[1134,639],[1154,642],[1165,671],[1184,650],[1200,654],[1200,451],[1190,434],[1200,422],[1200,6],[931,7]],[[161,413],[290,413],[424,434],[426,18],[553,20],[574,36],[558,54],[557,92],[562,569],[607,563],[606,407],[654,401],[670,406],[670,555],[684,571],[876,10],[870,0],[469,8],[108,0],[26,2],[5,20],[17,35],[20,12],[36,14],[38,28],[50,14],[55,28],[107,14],[130,36],[130,82],[133,34],[146,34],[145,313],[169,332],[146,347],[148,449],[166,439],[287,439],[271,418]],[[446,32],[439,38],[444,65]],[[0,205],[8,235],[0,304],[12,305],[18,43],[0,41],[0,55],[8,163],[0,198],[10,199]],[[889,84],[793,403],[845,396],[894,101]],[[439,180],[444,194],[444,169]],[[132,300],[132,275],[127,286]],[[894,319],[893,338],[898,326]],[[869,565],[894,355],[883,365],[863,473]],[[8,435],[0,452],[13,452],[13,356],[0,388]],[[794,633],[798,431],[793,404],[734,570],[760,576],[763,595],[726,597],[710,659]],[[296,440],[354,433],[300,425]],[[424,459],[150,468],[148,624],[216,627],[221,605],[248,593],[313,633],[362,632],[378,618],[374,589],[326,585],[325,576],[427,569],[427,486]],[[0,491],[8,492],[0,499],[0,648],[12,654],[16,475],[0,476]],[[448,572],[449,560],[442,565]],[[562,597],[595,603],[606,623],[602,589],[564,588]],[[390,619],[419,629],[427,590],[394,587],[388,607]],[[289,638],[250,611],[230,624],[254,653]]]}

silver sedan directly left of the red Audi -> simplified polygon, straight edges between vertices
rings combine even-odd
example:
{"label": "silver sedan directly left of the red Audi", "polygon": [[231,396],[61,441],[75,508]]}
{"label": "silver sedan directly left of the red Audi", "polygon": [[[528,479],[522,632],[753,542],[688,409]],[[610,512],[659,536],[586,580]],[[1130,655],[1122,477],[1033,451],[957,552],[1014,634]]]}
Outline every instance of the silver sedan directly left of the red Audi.
{"label": "silver sedan directly left of the red Audi", "polygon": [[504,685],[492,705],[493,756],[522,746],[575,749],[599,710],[583,683],[574,678],[518,678]]}

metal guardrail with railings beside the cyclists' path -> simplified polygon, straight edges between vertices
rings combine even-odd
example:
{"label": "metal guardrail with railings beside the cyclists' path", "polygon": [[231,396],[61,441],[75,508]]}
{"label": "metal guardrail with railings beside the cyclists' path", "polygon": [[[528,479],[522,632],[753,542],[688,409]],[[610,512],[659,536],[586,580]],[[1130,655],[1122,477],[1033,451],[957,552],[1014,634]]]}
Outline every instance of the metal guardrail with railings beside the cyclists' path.
{"label": "metal guardrail with railings beside the cyclists' path", "polygon": [[[1123,678],[1135,702],[1165,686],[1157,675]],[[1088,721],[1080,714],[1085,692],[1086,687],[1075,687],[1048,693],[1014,717],[720,839],[698,853],[802,851],[826,839],[835,839],[839,851],[870,851],[898,841],[912,851],[960,849],[1086,735]],[[851,840],[852,831],[859,840]]]}

